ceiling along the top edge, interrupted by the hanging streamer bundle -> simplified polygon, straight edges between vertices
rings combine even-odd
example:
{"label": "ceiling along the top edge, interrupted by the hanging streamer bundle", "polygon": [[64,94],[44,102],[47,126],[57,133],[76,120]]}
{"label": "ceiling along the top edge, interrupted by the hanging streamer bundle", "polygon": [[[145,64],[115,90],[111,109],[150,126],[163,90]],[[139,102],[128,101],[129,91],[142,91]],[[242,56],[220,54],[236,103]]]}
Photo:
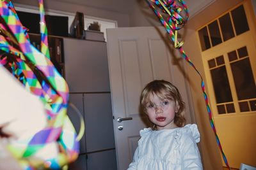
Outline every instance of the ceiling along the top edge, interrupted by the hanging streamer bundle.
{"label": "ceiling along the top edge, interrupted by the hanging streamer bundle", "polygon": [[[72,4],[79,4],[99,8],[102,10],[116,11],[118,13],[132,13],[132,9],[140,1],[145,0],[52,0],[61,1]],[[193,17],[196,13],[204,10],[207,6],[216,0],[184,0],[188,5],[189,15]]]}

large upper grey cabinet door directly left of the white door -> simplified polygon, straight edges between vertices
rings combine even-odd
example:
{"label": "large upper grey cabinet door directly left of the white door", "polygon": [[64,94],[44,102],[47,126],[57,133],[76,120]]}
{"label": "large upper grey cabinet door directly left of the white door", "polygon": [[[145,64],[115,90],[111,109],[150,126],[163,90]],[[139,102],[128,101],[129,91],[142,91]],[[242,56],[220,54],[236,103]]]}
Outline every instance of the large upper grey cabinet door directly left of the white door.
{"label": "large upper grey cabinet door directly left of the white door", "polygon": [[63,43],[70,92],[109,92],[106,43],[70,38]]}

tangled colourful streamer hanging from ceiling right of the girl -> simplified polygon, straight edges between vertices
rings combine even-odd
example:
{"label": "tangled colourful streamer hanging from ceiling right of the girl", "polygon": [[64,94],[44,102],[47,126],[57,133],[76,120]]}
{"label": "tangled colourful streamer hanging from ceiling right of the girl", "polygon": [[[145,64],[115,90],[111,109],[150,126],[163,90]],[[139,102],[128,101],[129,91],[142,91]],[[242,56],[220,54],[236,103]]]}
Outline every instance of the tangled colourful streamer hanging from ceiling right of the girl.
{"label": "tangled colourful streamer hanging from ceiling right of the girl", "polygon": [[[220,143],[220,139],[218,138],[216,128],[214,126],[214,119],[212,117],[209,100],[208,100],[208,97],[207,97],[207,94],[205,91],[204,79],[202,78],[202,75],[200,74],[198,69],[196,69],[195,65],[193,64],[193,62],[191,62],[189,57],[186,55],[184,49],[182,48],[182,45],[184,42],[177,41],[177,30],[184,27],[184,25],[188,22],[188,17],[189,17],[188,7],[186,6],[186,4],[184,3],[183,0],[176,0],[176,1],[175,0],[165,0],[165,1],[164,0],[163,1],[161,1],[161,0],[146,0],[146,1],[148,3],[148,6],[150,6],[150,8],[154,11],[154,13],[159,18],[161,24],[164,26],[164,28],[168,32],[169,36],[172,38],[172,41],[175,44],[175,48],[177,48],[179,50],[182,57],[195,69],[196,73],[199,74],[201,81],[202,81],[201,88],[202,88],[202,92],[204,94],[205,104],[206,104],[207,112],[209,115],[211,128],[216,136],[216,141],[220,148],[223,160],[224,160],[226,166],[230,169],[230,166],[228,165],[228,160],[225,156],[225,153],[223,152],[223,149],[222,149],[222,146]],[[181,4],[182,6],[179,6],[179,4]],[[160,9],[161,11],[163,11],[163,13],[168,14],[167,22],[166,22],[166,20],[164,20],[163,15],[161,15],[161,13],[157,10],[157,8]],[[182,9],[184,9],[184,13],[186,15],[185,19],[182,18],[182,15],[181,15]]]}

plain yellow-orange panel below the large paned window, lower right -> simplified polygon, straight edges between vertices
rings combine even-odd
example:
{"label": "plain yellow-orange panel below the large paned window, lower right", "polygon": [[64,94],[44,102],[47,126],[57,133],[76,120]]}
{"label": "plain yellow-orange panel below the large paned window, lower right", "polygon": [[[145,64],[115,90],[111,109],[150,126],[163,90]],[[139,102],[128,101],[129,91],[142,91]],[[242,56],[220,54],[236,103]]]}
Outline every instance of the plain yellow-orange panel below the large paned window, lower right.
{"label": "plain yellow-orange panel below the large paned window, lower right", "polygon": [[214,120],[230,166],[239,168],[241,163],[256,166],[256,114]]}

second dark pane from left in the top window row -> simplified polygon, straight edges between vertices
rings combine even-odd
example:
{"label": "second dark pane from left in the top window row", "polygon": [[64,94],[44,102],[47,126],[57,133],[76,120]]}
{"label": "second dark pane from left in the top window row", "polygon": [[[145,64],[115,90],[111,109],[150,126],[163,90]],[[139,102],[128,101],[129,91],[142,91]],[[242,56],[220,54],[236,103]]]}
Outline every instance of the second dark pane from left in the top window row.
{"label": "second dark pane from left in the top window row", "polygon": [[208,28],[209,28],[211,41],[212,41],[212,46],[216,46],[216,45],[220,44],[222,41],[221,41],[220,30],[218,27],[217,20],[215,20],[214,22],[209,24]]}

